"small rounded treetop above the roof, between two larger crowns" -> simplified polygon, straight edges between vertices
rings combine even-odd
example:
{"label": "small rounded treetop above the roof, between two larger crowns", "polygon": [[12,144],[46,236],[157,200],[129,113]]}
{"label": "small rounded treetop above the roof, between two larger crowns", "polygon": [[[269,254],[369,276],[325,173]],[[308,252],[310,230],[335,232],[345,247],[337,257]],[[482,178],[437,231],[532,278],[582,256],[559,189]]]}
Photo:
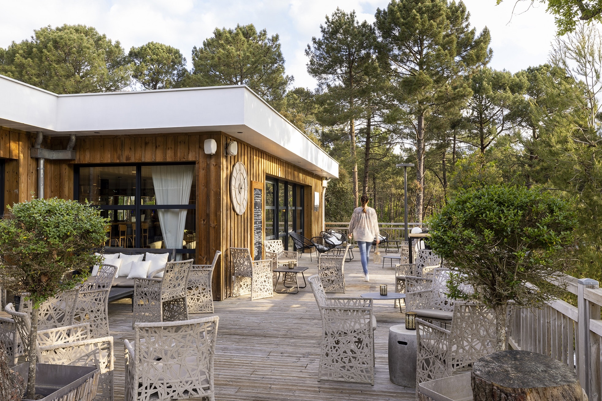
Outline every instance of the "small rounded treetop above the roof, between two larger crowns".
{"label": "small rounded treetop above the roof, between two larger crowns", "polygon": [[169,89],[177,86],[187,75],[186,59],[178,49],[167,44],[149,41],[130,49],[132,77],[144,89]]}

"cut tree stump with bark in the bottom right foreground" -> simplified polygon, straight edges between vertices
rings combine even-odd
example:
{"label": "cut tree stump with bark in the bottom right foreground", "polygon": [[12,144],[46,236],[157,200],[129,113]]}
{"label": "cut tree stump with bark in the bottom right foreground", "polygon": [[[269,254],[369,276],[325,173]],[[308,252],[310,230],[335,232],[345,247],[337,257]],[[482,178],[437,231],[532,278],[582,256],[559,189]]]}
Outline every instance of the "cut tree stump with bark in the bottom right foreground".
{"label": "cut tree stump with bark in the bottom right foreground", "polygon": [[508,350],[480,358],[471,378],[474,401],[583,401],[574,370],[553,358]]}

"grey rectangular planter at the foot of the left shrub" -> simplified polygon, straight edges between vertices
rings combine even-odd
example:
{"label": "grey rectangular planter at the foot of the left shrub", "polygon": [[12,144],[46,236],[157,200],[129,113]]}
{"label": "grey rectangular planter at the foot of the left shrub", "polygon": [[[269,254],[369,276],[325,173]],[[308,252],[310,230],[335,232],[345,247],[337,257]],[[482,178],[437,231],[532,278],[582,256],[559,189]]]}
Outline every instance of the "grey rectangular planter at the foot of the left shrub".
{"label": "grey rectangular planter at the foot of the left shrub", "polygon": [[[11,369],[27,382],[29,363]],[[98,367],[36,364],[36,394],[44,396],[36,401],[54,401],[61,397],[68,401],[92,401],[100,373]],[[23,401],[28,399],[23,397]]]}

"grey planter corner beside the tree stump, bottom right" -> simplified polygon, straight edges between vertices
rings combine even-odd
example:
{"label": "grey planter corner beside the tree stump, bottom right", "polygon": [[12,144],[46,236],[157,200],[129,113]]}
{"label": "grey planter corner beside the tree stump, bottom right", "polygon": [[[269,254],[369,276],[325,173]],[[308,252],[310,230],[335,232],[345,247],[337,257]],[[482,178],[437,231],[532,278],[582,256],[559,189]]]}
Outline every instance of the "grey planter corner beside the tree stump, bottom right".
{"label": "grey planter corner beside the tree stump, bottom right", "polygon": [[418,385],[420,401],[472,401],[470,373],[436,379]]}

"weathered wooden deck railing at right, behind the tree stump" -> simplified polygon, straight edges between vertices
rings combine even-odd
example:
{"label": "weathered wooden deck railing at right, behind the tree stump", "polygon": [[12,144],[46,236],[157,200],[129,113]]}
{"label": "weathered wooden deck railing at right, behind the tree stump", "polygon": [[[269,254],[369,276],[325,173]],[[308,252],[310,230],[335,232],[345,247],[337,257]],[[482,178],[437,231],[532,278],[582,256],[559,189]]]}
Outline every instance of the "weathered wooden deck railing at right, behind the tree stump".
{"label": "weathered wooden deck railing at right, behind the tree stump", "polygon": [[577,306],[557,299],[539,309],[513,308],[508,341],[573,367],[589,400],[602,401],[602,289],[591,278],[563,278]]}

